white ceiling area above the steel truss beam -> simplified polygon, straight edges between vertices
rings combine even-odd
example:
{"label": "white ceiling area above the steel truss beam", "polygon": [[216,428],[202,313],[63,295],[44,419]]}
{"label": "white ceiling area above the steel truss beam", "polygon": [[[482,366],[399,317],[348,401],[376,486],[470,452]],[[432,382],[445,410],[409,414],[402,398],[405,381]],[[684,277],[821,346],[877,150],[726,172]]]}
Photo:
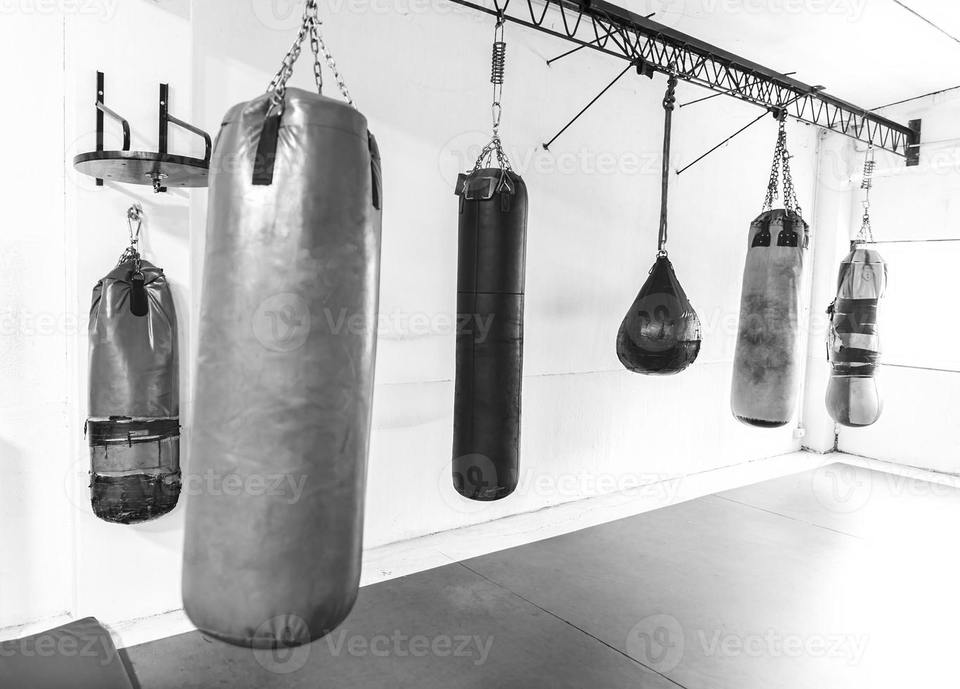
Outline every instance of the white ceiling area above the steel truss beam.
{"label": "white ceiling area above the steel truss beam", "polygon": [[616,0],[616,4],[637,14],[656,12],[654,21],[770,69],[796,72],[796,79],[822,84],[831,95],[860,107],[884,106],[960,85],[960,3]]}

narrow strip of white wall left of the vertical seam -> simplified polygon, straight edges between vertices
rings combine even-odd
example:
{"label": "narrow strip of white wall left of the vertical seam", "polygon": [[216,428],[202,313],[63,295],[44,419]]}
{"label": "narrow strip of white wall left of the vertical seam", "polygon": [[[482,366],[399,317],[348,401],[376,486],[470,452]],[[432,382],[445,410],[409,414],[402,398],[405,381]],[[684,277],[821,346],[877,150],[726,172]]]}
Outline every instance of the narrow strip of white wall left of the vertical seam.
{"label": "narrow strip of white wall left of the vertical seam", "polygon": [[[0,19],[10,70],[0,107],[0,627],[70,605],[62,26],[57,15]],[[26,78],[25,55],[42,79]]]}

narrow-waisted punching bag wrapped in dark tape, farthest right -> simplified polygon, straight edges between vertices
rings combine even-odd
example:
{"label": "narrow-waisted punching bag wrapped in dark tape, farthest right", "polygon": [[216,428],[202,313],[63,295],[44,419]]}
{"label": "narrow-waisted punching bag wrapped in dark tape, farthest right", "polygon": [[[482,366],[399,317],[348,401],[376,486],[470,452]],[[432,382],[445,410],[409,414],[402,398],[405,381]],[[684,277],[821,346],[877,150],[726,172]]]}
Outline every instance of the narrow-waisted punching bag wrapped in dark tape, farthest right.
{"label": "narrow-waisted punching bag wrapped in dark tape, farthest right", "polygon": [[855,247],[840,264],[837,297],[828,309],[827,410],[844,426],[869,426],[883,411],[876,389],[876,314],[886,284],[887,266],[874,249]]}

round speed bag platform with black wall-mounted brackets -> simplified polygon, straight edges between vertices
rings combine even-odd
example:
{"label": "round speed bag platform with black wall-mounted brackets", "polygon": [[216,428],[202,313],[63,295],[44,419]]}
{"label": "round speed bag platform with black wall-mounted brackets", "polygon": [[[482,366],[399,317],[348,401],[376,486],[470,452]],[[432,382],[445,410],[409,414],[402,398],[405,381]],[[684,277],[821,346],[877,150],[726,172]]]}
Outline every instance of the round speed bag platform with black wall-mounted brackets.
{"label": "round speed bag platform with black wall-mounted brackets", "polygon": [[[207,185],[212,145],[210,135],[168,112],[169,85],[160,84],[159,135],[157,151],[131,151],[130,125],[127,120],[104,105],[104,73],[97,72],[97,144],[96,150],[75,155],[73,166],[84,175],[128,184],[151,184],[155,192],[166,191],[167,186],[202,187]],[[120,123],[123,129],[123,148],[104,151],[104,114]],[[167,152],[167,129],[170,123],[204,138],[203,159]]]}

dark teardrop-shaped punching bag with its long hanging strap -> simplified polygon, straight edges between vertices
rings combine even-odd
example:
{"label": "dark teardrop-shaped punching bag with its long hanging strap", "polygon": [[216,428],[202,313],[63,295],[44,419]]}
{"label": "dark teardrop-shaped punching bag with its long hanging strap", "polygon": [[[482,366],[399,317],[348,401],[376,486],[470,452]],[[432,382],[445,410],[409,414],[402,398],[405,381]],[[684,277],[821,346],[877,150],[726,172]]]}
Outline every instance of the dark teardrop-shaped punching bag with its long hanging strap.
{"label": "dark teardrop-shaped punching bag with its long hanging strap", "polygon": [[672,375],[690,366],[700,353],[700,319],[686,298],[667,258],[667,190],[670,178],[670,129],[677,78],[671,76],[663,98],[663,176],[660,199],[660,251],[639,294],[616,334],[616,355],[624,368],[647,375]]}

